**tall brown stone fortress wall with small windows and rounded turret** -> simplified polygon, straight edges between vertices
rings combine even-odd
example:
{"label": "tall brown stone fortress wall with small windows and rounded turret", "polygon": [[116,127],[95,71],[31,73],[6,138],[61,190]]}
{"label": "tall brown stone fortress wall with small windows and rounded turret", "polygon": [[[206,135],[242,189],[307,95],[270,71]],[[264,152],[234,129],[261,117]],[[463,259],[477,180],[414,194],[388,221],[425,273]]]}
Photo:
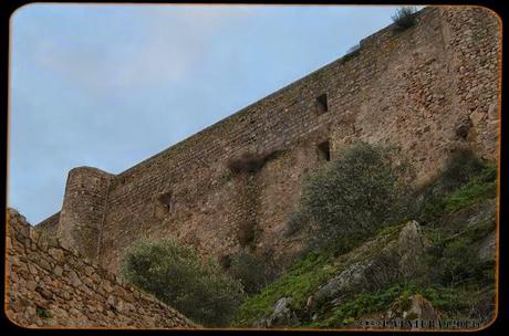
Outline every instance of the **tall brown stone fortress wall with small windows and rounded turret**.
{"label": "tall brown stone fortress wall with small windows and rounded turret", "polygon": [[[401,146],[418,182],[458,145],[497,159],[499,39],[498,18],[485,8],[426,8],[408,30],[389,25],[126,171],[83,183],[83,192],[70,175],[58,232],[113,271],[142,235],[177,237],[218,258],[249,250],[283,265],[300,245],[283,234],[287,217],[302,178],[323,165],[320,144],[329,141],[332,158],[359,140]],[[229,169],[253,151],[278,155],[256,174]]]}

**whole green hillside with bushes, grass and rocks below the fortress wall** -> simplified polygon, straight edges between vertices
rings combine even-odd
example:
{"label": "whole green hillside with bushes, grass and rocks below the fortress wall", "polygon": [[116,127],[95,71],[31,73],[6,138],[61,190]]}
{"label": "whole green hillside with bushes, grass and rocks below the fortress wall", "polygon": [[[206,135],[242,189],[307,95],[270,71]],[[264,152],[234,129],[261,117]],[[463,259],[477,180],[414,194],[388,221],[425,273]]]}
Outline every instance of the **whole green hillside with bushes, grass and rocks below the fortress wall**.
{"label": "whole green hillside with bushes, grass and rocks below the fortress wall", "polygon": [[175,241],[146,240],[126,252],[124,277],[206,326],[352,327],[416,301],[439,318],[489,322],[497,167],[457,149],[418,190],[413,178],[401,151],[365,143],[312,172],[285,231],[308,243],[277,279],[249,253],[225,274]]}

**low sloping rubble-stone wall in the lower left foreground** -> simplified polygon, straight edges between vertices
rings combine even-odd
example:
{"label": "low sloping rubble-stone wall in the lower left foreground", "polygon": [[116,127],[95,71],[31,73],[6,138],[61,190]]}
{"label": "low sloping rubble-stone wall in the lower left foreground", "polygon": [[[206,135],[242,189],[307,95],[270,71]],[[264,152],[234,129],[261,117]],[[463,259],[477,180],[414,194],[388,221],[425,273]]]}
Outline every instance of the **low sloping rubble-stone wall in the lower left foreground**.
{"label": "low sloping rubble-stone wall in the lower left foreground", "polygon": [[8,210],[7,315],[23,327],[185,328],[196,325]]}

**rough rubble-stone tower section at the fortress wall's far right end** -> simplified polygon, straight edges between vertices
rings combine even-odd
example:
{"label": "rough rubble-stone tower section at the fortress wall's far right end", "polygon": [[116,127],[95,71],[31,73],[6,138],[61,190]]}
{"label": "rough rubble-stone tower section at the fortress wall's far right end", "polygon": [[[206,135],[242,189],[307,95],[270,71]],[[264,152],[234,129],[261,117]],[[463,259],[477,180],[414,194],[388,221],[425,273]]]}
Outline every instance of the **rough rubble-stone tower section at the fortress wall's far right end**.
{"label": "rough rubble-stone tower section at the fortress wall's far right end", "polygon": [[[471,127],[468,141],[485,158],[498,158],[501,84],[501,29],[496,14],[487,10],[445,11],[446,49],[455,74],[457,109]],[[499,72],[500,71],[500,72]]]}

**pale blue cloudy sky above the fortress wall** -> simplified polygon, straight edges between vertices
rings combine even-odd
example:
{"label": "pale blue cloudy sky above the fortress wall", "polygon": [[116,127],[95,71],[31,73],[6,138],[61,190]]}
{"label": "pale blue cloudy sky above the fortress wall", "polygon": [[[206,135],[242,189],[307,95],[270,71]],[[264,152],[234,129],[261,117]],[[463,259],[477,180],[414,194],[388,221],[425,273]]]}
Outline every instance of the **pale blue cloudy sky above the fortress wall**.
{"label": "pale blue cloudy sky above the fortress wall", "polygon": [[118,174],[341,57],[397,7],[30,4],[11,17],[8,206]]}

